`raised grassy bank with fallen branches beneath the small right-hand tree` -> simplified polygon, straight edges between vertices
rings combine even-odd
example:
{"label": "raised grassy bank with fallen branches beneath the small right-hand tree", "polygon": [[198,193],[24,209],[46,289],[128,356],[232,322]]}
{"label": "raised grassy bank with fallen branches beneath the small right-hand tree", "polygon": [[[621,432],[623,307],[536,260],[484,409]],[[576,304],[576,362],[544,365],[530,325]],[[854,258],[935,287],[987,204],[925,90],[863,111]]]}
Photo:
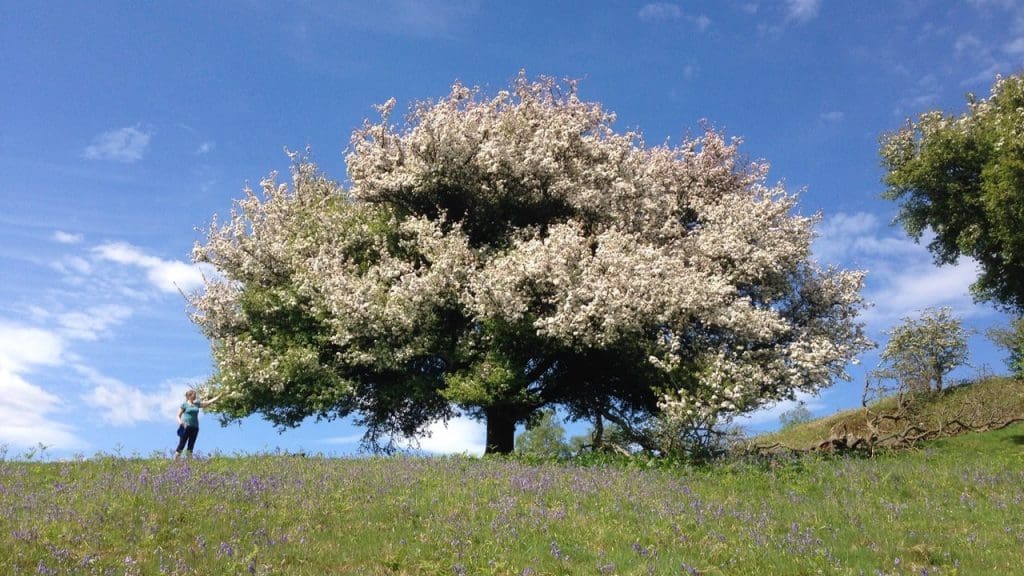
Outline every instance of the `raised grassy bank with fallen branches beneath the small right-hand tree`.
{"label": "raised grassy bank with fallen branches beneath the small right-hand tree", "polygon": [[[846,410],[784,430],[762,435],[753,439],[753,444],[770,446],[777,443],[802,450],[839,434],[866,436],[870,431],[867,426],[868,411],[892,414],[896,411],[896,401],[893,398],[885,399],[869,406],[867,410]],[[1024,380],[991,377],[918,397],[907,408],[905,416],[906,419],[901,421],[882,420],[882,434],[892,434],[915,424],[928,429],[944,427],[950,435],[954,435],[963,431],[958,426],[949,425],[954,420],[978,426],[985,422],[1022,418]]]}

